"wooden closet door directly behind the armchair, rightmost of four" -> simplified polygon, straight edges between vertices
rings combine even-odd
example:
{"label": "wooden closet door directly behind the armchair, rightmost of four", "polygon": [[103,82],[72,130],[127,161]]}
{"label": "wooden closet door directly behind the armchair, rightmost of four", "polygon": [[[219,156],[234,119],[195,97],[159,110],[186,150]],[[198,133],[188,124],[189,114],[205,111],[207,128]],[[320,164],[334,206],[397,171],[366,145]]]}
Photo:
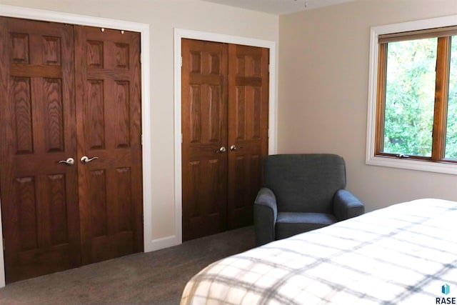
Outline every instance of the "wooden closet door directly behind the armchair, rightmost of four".
{"label": "wooden closet door directly behind the armchair, rightmost of four", "polygon": [[268,49],[229,44],[229,229],[253,223],[268,154]]}

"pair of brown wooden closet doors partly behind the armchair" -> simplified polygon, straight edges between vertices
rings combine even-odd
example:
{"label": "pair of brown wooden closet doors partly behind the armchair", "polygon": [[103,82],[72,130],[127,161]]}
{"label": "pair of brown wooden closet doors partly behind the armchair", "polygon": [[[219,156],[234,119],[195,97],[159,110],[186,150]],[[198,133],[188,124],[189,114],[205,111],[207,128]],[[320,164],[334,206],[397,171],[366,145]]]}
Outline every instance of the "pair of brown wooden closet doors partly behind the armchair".
{"label": "pair of brown wooden closet doors partly behind the armchair", "polygon": [[268,154],[269,50],[182,40],[183,240],[253,223]]}

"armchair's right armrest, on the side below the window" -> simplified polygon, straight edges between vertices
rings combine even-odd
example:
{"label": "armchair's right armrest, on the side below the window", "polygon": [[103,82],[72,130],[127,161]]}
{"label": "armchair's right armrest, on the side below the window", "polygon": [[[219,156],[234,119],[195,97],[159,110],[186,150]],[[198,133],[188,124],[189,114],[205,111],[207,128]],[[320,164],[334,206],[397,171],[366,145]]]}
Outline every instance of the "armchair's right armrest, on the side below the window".
{"label": "armchair's right armrest, on the side below the window", "polygon": [[346,189],[336,191],[333,197],[333,214],[338,221],[365,213],[365,205]]}

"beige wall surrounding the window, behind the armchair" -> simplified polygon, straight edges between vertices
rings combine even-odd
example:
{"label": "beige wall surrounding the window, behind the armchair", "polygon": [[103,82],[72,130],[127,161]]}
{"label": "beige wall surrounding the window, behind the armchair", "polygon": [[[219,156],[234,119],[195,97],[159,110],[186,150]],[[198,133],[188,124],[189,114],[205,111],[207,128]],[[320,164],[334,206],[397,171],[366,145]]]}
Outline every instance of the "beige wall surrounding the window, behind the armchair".
{"label": "beige wall surrounding the window, behind the armchair", "polygon": [[368,211],[457,201],[457,176],[365,164],[370,27],[453,14],[455,0],[358,0],[281,16],[278,152],[341,154]]}

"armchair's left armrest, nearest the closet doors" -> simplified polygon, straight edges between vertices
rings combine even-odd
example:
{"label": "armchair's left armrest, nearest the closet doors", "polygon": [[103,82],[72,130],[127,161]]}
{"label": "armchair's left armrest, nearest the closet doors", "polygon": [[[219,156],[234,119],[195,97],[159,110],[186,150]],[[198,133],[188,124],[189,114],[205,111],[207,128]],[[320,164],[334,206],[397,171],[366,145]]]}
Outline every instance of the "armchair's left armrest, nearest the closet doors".
{"label": "armchair's left armrest, nearest the closet doors", "polygon": [[267,244],[274,240],[274,227],[278,208],[276,196],[266,187],[258,191],[254,201],[254,230],[256,231],[256,246]]}

